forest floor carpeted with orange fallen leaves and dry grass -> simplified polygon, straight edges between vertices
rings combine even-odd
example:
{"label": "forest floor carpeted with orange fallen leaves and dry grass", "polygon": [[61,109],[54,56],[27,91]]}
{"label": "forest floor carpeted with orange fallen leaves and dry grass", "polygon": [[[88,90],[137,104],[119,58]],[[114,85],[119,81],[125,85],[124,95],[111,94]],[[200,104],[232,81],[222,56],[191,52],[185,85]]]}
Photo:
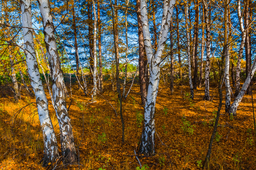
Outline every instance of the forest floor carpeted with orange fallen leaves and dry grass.
{"label": "forest floor carpeted with orange fallen leaves and dry grass", "polygon": [[[108,90],[109,89],[109,90]],[[105,86],[92,103],[90,96],[73,88],[69,116],[75,137],[79,165],[51,164],[41,167],[43,158],[35,97],[23,92],[19,103],[13,103],[11,92],[0,90],[0,169],[139,169],[139,140],[142,133],[143,107],[138,84],[123,100],[125,143],[122,145],[122,125],[118,112],[117,93]],[[225,90],[223,90],[225,94]],[[195,91],[190,100],[187,86],[175,88],[160,85],[155,109],[155,148],[151,157],[138,155],[144,169],[199,169],[207,154],[210,135],[218,107],[217,87],[210,90],[211,100],[204,101],[204,88]],[[256,99],[256,95],[254,95]],[[50,103],[50,99],[48,98]],[[209,169],[256,169],[256,138],[253,135],[253,107],[251,96],[245,95],[238,107],[237,117],[225,114],[222,104],[218,132],[214,139]],[[254,100],[254,103],[256,101]],[[26,107],[25,107],[26,106]],[[24,108],[23,108],[24,107]],[[59,140],[59,126],[55,111],[49,104],[55,133]],[[60,143],[59,143],[60,149]]]}

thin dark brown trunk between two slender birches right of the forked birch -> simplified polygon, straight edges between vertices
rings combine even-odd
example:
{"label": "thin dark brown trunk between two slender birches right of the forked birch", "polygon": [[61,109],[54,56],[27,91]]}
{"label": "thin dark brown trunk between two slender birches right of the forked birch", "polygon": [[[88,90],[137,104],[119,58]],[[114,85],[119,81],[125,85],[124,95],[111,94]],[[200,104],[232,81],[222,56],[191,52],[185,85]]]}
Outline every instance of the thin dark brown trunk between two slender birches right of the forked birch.
{"label": "thin dark brown trunk between two slender birches right of the forked birch", "polygon": [[194,68],[194,79],[193,79],[193,88],[196,90],[197,87],[197,71],[198,71],[198,64],[197,64],[197,48],[198,48],[198,32],[199,32],[199,3],[196,0],[196,18],[195,18],[195,68]]}

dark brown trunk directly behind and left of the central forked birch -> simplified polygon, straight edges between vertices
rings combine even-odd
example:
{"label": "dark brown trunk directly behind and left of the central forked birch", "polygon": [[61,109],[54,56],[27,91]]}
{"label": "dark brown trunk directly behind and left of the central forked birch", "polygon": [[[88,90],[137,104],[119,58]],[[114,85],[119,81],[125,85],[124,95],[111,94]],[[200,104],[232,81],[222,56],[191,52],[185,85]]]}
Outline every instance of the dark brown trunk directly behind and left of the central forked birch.
{"label": "dark brown trunk directly behind and left of the central forked birch", "polygon": [[141,91],[141,103],[145,105],[147,97],[147,56],[144,49],[142,22],[141,22],[141,0],[136,1],[138,37],[139,37],[139,87]]}

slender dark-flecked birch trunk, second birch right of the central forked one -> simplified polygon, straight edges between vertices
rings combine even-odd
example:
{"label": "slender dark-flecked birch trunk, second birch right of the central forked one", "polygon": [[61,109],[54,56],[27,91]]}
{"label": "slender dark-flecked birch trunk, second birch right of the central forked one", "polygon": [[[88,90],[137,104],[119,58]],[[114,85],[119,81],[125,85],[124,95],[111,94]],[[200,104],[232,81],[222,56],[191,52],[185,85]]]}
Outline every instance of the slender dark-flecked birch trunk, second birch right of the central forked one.
{"label": "slender dark-flecked birch trunk, second birch right of the central forked one", "polygon": [[204,89],[204,100],[210,100],[210,81],[209,81],[209,73],[210,73],[210,23],[209,23],[209,16],[208,16],[208,6],[206,2],[204,2],[204,17],[205,17],[205,27],[207,32],[206,37],[206,50],[207,50],[207,58],[205,63],[205,89]]}

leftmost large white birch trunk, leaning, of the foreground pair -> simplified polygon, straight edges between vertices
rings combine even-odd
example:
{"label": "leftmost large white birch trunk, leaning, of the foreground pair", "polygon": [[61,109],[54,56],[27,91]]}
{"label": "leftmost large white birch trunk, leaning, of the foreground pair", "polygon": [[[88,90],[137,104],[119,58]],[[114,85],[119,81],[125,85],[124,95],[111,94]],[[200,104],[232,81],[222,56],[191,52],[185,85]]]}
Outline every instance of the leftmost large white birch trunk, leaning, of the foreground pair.
{"label": "leftmost large white birch trunk, leaning, of the foreground pair", "polygon": [[31,86],[35,92],[36,107],[38,108],[40,126],[43,132],[43,166],[47,166],[49,162],[53,163],[57,158],[59,158],[59,151],[57,148],[56,136],[53,130],[52,121],[49,117],[48,101],[44,92],[42,80],[40,79],[38,63],[36,61],[34,39],[32,35],[32,29],[30,29],[32,28],[30,0],[21,1],[21,10],[25,44],[24,49],[26,54],[28,74],[30,75]]}

